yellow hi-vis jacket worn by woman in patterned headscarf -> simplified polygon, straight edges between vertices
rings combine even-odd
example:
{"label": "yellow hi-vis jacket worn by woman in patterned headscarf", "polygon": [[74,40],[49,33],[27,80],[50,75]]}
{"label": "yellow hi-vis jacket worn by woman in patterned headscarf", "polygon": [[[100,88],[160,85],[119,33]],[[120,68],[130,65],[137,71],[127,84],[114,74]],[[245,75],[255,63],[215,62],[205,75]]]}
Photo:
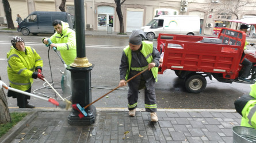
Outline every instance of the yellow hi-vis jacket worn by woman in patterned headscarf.
{"label": "yellow hi-vis jacket worn by woman in patterned headscarf", "polygon": [[7,53],[7,74],[10,86],[22,91],[28,90],[33,84],[32,74],[35,67],[43,67],[43,61],[36,50],[30,46],[25,46],[24,51],[18,51],[11,46]]}

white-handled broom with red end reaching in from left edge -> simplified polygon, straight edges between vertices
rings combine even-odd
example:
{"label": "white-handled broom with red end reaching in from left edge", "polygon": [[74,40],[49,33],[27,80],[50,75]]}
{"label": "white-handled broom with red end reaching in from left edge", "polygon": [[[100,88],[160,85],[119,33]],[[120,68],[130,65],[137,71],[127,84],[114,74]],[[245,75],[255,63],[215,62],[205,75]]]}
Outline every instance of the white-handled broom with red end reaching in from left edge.
{"label": "white-handled broom with red end reaching in from left edge", "polygon": [[32,97],[39,98],[41,100],[51,102],[52,104],[54,104],[56,106],[59,106],[59,108],[66,108],[66,109],[68,108],[65,102],[58,102],[58,101],[54,100],[53,98],[45,98],[45,97],[37,96],[37,95],[32,94],[32,93],[24,92],[22,90],[18,90],[18,89],[8,87],[4,82],[2,82],[0,80],[0,89],[2,87],[5,88],[5,89],[8,89],[8,90],[12,90],[13,92],[18,92],[18,93],[21,93],[21,94],[25,94],[26,96],[32,96]]}

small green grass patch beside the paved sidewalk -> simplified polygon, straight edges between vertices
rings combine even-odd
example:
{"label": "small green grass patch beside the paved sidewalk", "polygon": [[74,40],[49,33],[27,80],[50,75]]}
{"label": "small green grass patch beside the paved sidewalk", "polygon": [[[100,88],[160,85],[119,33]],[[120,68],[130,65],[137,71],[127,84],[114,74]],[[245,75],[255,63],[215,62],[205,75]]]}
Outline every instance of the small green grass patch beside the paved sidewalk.
{"label": "small green grass patch beside the paved sidewalk", "polygon": [[0,124],[0,137],[2,137],[5,133],[8,132],[11,128],[13,128],[14,125],[16,125],[18,122],[22,120],[28,113],[18,113],[13,112],[10,113],[10,116],[12,118],[11,122],[7,122],[6,124]]}

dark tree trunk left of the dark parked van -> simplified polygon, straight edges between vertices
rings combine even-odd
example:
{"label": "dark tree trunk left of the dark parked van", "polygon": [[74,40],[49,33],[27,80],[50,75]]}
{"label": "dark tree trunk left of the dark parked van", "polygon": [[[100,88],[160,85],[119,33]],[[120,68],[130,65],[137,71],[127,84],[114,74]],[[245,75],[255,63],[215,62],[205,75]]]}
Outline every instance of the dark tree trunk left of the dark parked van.
{"label": "dark tree trunk left of the dark parked van", "polygon": [[7,27],[9,29],[15,29],[13,25],[13,19],[12,19],[12,9],[10,7],[10,3],[7,0],[2,0],[3,3],[3,9],[5,10],[5,17],[7,21]]}

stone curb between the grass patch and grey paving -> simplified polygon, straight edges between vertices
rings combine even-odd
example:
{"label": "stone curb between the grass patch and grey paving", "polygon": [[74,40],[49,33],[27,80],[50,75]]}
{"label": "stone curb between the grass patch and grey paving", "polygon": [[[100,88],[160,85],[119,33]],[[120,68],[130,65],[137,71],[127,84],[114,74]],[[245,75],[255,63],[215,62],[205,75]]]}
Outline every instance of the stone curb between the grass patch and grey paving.
{"label": "stone curb between the grass patch and grey paving", "polygon": [[28,112],[28,115],[23,118],[18,124],[14,125],[5,135],[0,138],[1,143],[11,142],[22,129],[25,128],[26,124],[29,124],[37,116],[38,111],[22,111]]}

